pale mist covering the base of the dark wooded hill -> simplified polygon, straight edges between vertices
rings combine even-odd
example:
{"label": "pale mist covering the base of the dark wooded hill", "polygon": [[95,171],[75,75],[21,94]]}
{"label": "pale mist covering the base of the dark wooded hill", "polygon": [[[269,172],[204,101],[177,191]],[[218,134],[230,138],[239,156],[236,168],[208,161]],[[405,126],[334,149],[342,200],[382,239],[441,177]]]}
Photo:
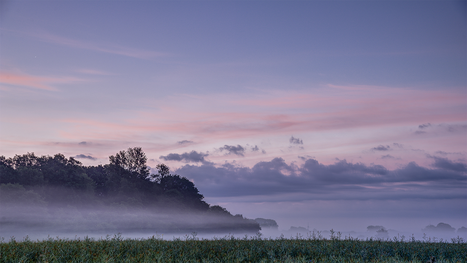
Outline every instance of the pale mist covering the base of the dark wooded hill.
{"label": "pale mist covering the base of the dark wooded hill", "polygon": [[41,207],[37,205],[2,204],[0,235],[42,239],[50,236],[125,236],[148,237],[153,234],[254,234],[258,224],[241,215],[226,216],[210,212],[151,212],[148,210],[113,208],[78,209],[73,206]]}

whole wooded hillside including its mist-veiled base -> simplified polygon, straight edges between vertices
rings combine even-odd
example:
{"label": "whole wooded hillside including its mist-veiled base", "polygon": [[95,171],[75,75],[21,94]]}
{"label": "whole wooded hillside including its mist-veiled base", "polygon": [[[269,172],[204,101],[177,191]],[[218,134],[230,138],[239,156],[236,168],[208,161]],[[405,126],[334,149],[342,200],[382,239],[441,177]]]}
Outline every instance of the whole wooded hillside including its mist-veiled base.
{"label": "whole wooded hillside including its mist-veiled base", "polygon": [[[36,156],[34,153],[0,156],[2,229],[37,217],[40,227],[81,230],[197,230],[197,225],[178,220],[193,213],[201,229],[260,230],[254,220],[231,215],[217,205],[210,206],[186,177],[170,174],[164,164],[150,174],[146,155],[140,147],[109,156],[110,163],[83,166],[61,153]],[[26,212],[21,208],[27,207]],[[32,209],[32,211],[31,211]],[[34,212],[31,213],[31,212]],[[172,217],[155,217],[155,214]],[[178,215],[178,217],[177,217]],[[222,224],[208,218],[221,217]],[[205,222],[203,224],[203,222]],[[31,225],[28,221],[26,225]],[[211,226],[207,226],[210,224]]]}

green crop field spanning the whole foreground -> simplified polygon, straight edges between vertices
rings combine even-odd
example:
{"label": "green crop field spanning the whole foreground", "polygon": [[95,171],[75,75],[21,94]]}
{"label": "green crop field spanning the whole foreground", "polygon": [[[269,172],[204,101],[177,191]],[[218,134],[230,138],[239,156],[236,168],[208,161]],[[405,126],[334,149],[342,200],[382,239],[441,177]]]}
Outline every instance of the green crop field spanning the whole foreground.
{"label": "green crop field spanning the whole foreground", "polygon": [[[332,232],[333,233],[333,232]],[[467,245],[462,238],[450,242],[432,239],[417,241],[404,236],[393,239],[325,239],[314,233],[307,238],[198,239],[196,233],[164,240],[123,239],[121,234],[95,240],[49,238],[31,241],[1,240],[0,262],[467,262]]]}

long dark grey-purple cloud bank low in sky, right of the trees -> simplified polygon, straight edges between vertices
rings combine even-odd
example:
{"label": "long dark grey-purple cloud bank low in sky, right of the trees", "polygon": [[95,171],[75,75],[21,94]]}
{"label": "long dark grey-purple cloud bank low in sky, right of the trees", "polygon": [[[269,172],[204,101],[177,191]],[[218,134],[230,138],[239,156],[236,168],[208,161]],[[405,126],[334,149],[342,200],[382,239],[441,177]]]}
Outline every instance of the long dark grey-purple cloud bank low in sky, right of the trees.
{"label": "long dark grey-purple cloud bank low in sky, right of the trees", "polygon": [[[186,164],[175,172],[192,179],[211,197],[282,195],[294,201],[465,198],[466,164],[433,158],[432,168],[410,162],[402,168],[389,170],[381,165],[346,160],[324,165],[314,159],[297,166],[274,158],[258,162],[252,168],[232,163],[220,167],[204,163]],[[291,193],[294,195],[287,195]]]}

